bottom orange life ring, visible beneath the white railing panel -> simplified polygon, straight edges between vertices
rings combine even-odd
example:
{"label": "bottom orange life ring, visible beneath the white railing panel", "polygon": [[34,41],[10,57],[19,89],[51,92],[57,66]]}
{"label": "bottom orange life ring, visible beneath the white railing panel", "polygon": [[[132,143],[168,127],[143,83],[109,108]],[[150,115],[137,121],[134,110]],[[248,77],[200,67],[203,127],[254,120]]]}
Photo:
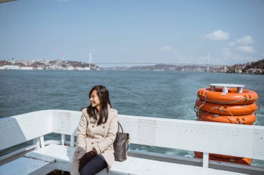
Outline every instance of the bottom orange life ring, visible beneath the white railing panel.
{"label": "bottom orange life ring, visible beneath the white railing panel", "polygon": [[[230,156],[231,158],[220,158],[213,155],[215,154],[209,154],[209,160],[217,160],[217,161],[229,162],[229,163],[239,163],[243,165],[250,165],[252,162],[252,158],[238,158],[238,157],[232,158],[232,156]],[[195,151],[195,158],[203,158],[203,153]]]}

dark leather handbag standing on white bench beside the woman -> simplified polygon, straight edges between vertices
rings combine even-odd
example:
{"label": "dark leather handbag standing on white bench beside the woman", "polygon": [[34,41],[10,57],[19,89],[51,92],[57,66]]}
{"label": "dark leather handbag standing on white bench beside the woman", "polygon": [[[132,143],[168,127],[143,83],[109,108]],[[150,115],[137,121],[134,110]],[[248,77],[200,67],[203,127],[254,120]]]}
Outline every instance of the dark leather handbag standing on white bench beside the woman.
{"label": "dark leather handbag standing on white bench beside the woman", "polygon": [[[122,132],[119,132],[119,126]],[[126,160],[127,150],[129,149],[129,133],[124,133],[122,125],[118,122],[117,136],[114,142],[115,160],[122,162]]]}

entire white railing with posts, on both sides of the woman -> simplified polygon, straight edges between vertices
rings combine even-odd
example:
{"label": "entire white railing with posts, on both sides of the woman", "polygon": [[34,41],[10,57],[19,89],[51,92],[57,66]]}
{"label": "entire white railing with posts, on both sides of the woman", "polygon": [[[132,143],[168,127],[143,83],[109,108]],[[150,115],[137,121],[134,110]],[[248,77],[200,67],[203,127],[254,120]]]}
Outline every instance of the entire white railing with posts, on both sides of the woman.
{"label": "entire white railing with posts, on both sides of the woman", "polygon": [[[44,147],[48,133],[74,136],[81,118],[80,111],[44,110],[0,120],[0,150],[28,140],[38,140]],[[149,118],[119,115],[131,143],[204,152],[203,166],[208,167],[208,153],[264,160],[264,127],[215,122]],[[40,142],[40,145],[38,143]]]}

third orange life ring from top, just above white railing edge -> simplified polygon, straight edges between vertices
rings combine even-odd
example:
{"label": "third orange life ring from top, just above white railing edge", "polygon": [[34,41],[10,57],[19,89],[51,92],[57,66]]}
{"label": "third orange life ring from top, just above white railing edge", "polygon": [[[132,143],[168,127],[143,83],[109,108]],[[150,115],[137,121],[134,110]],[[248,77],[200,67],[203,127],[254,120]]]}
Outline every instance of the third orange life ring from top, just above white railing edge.
{"label": "third orange life ring from top, just above white railing edge", "polygon": [[226,123],[235,123],[235,124],[244,124],[244,125],[252,125],[256,121],[255,113],[245,116],[224,116],[215,113],[205,113],[205,114],[199,114],[198,117],[201,121],[226,122]]}

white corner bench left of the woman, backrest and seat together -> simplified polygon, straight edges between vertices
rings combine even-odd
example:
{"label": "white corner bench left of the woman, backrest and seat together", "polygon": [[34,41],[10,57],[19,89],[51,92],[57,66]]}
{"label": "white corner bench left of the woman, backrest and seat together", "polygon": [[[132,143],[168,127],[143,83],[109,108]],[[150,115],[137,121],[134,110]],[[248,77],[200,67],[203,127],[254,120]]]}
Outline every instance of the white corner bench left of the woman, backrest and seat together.
{"label": "white corner bench left of the woman, backrest and seat together", "polygon": [[[1,165],[0,174],[48,174],[55,169],[69,171],[70,156],[75,150],[74,133],[76,133],[80,115],[79,111],[44,110],[2,118],[0,120],[0,150],[32,139],[34,144],[32,147],[35,150],[22,158]],[[61,134],[62,145],[57,145],[60,151],[54,149],[52,145],[45,146],[44,135],[49,133]],[[71,136],[70,147],[64,146],[65,135]],[[0,162],[8,158],[12,159],[15,154],[22,154],[27,150],[27,148],[19,149],[2,156]],[[45,151],[53,152],[54,156],[43,154]],[[60,159],[65,157],[67,159]],[[60,163],[60,160],[64,162]]]}

